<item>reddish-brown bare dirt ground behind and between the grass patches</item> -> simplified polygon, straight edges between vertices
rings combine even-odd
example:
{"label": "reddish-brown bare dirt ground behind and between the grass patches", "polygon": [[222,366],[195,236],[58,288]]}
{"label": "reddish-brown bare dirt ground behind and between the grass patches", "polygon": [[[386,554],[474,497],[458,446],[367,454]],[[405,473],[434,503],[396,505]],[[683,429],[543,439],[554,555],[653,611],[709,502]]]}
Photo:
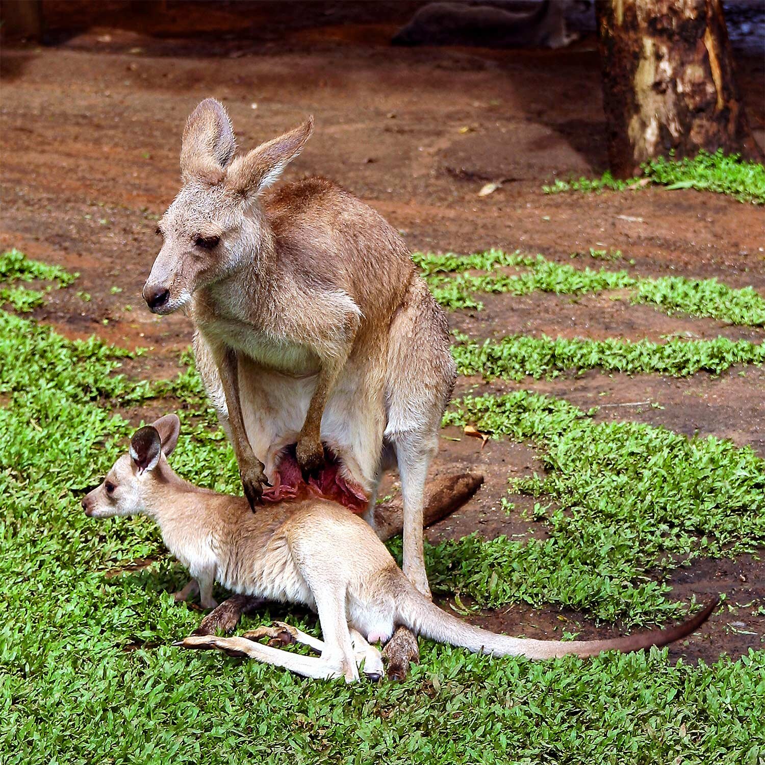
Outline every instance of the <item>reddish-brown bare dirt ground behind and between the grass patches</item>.
{"label": "reddish-brown bare dirt ground behind and between the grass patches", "polygon": [[[606,168],[592,35],[558,51],[402,49],[389,38],[418,3],[167,5],[145,15],[103,2],[86,25],[80,3],[46,2],[47,44],[6,44],[0,57],[0,246],[79,271],[76,287],[53,293],[37,316],[70,337],[96,333],[148,347],[132,373],[174,375],[178,352],[190,342],[187,318],[152,316],[140,292],[158,249],[155,220],[177,191],[184,120],[210,95],[226,104],[243,148],[313,113],[314,137],[286,177],[334,178],[384,214],[413,250],[494,246],[570,262],[571,252],[619,249],[623,260],[603,265],[640,275],[716,276],[765,290],[762,210],[693,190],[542,194],[542,183],[555,177]],[[765,65],[744,54],[737,65],[762,143]],[[502,179],[500,190],[477,196],[487,181]],[[602,296],[485,302],[486,311],[455,314],[452,326],[483,337],[522,331],[658,340],[690,332],[762,341],[765,334]],[[688,380],[592,372],[524,385],[584,407],[606,403],[604,418],[721,435],[765,454],[760,369]],[[486,386],[466,379],[457,392],[468,387]],[[487,481],[430,530],[431,539],[475,529],[487,537],[529,532],[519,516],[505,515],[500,498],[508,474],[539,470],[532,449],[494,442],[481,450],[476,439],[444,435],[434,473],[478,469]],[[679,597],[725,591],[733,608],[673,653],[715,659],[760,646],[765,617],[753,612],[765,597],[763,574],[750,557],[679,571],[672,580]],[[514,607],[484,620],[529,635],[554,634],[562,624],[584,635],[594,630],[577,614],[563,614],[573,627],[559,615]]]}

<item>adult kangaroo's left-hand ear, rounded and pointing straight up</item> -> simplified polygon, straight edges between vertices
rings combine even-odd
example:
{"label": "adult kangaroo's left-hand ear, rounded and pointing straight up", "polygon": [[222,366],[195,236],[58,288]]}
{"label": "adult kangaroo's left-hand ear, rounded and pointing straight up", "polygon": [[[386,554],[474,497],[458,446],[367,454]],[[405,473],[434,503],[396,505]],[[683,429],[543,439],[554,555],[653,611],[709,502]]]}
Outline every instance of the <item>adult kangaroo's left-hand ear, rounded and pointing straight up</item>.
{"label": "adult kangaroo's left-hand ear, rounded and pointing straight up", "polygon": [[191,112],[181,143],[181,177],[218,184],[236,149],[231,120],[223,104],[206,98]]}

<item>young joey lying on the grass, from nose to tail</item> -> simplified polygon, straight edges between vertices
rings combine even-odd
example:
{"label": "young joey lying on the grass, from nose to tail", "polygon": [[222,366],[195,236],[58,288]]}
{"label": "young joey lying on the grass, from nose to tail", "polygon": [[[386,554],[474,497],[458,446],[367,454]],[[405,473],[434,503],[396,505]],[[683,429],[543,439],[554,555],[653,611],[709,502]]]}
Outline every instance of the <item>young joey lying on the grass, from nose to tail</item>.
{"label": "young joey lying on the grass, from nose to tail", "polygon": [[[185,648],[216,648],[306,677],[351,682],[359,679],[360,664],[367,675],[381,674],[379,651],[369,643],[384,643],[399,625],[474,653],[551,659],[665,645],[695,631],[717,603],[715,599],[678,627],[611,640],[526,640],[491,633],[428,600],[373,530],[339,503],[282,500],[270,513],[251,513],[243,497],[187,483],[167,461],[179,428],[178,418],[166,415],[136,431],[129,454],[119,457],[104,482],[83,499],[86,515],[151,517],[170,552],[197,581],[203,604],[213,602],[213,581],[236,593],[303,604],[317,611],[324,638],[276,623],[242,637],[190,636],[177,643]],[[193,587],[190,583],[184,591]],[[263,636],[272,642],[304,643],[320,656],[257,643]]]}

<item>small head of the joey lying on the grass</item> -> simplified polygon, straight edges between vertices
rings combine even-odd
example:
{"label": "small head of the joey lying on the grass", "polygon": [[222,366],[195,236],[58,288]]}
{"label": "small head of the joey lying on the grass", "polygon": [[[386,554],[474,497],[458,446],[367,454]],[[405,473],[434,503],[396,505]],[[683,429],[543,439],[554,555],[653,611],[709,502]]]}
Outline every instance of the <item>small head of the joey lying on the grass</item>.
{"label": "small head of the joey lying on the grass", "polygon": [[130,440],[130,451],[112,465],[103,483],[83,498],[83,510],[91,518],[132,516],[146,513],[152,490],[161,481],[158,468],[178,442],[181,421],[177,415],[164,415],[140,428]]}

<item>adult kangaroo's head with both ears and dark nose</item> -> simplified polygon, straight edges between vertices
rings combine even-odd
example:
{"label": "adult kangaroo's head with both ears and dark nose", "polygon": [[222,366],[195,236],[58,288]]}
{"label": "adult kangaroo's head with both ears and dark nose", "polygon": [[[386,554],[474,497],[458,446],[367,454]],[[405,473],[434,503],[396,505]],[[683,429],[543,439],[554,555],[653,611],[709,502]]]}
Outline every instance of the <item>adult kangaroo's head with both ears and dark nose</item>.
{"label": "adult kangaroo's head with both ears and dark nose", "polygon": [[195,290],[223,281],[258,257],[265,225],[259,195],[300,154],[313,129],[309,117],[234,158],[226,109],[208,98],[191,112],[181,145],[183,186],[157,226],[162,248],[143,288],[151,311],[177,311]]}

